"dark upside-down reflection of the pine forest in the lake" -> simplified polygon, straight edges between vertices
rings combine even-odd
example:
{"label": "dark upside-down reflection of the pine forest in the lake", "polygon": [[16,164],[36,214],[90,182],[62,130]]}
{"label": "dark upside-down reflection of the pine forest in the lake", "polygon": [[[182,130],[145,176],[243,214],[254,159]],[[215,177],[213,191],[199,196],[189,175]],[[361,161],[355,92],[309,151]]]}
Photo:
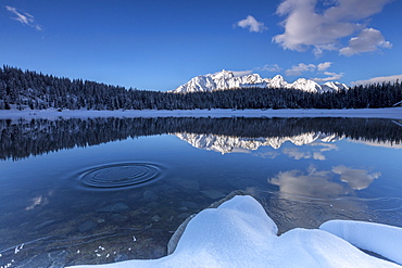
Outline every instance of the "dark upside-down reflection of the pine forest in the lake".
{"label": "dark upside-down reflection of the pine forest in the lake", "polygon": [[402,127],[366,118],[70,118],[1,119],[0,158],[24,158],[61,149],[88,146],[163,133],[280,138],[319,132],[354,140],[399,144]]}

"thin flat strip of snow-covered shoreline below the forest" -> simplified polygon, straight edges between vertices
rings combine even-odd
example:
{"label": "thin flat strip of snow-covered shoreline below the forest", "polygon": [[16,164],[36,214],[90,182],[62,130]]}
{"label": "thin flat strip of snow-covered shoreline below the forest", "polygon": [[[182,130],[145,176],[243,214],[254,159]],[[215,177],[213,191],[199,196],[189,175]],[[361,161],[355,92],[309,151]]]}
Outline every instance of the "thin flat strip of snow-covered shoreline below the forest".
{"label": "thin flat strip of snow-covered shoreline below the forest", "polygon": [[402,107],[359,110],[1,110],[0,119],[90,117],[348,117],[402,119]]}

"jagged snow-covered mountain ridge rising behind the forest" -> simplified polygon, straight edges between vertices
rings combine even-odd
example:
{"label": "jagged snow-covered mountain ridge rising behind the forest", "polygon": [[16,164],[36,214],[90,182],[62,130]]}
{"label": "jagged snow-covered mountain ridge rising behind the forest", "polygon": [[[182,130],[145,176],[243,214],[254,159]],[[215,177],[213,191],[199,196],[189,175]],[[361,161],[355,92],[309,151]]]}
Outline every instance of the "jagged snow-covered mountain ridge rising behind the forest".
{"label": "jagged snow-covered mountain ridge rising behind the forest", "polygon": [[322,93],[348,89],[348,86],[337,81],[328,81],[324,85],[318,85],[317,82],[305,78],[299,78],[294,82],[290,84],[285,81],[284,77],[280,75],[276,75],[274,78],[261,78],[259,74],[235,76],[234,72],[223,69],[216,74],[193,77],[185,85],[179,86],[175,90],[171,90],[171,92],[210,92],[214,90],[238,88],[287,88]]}

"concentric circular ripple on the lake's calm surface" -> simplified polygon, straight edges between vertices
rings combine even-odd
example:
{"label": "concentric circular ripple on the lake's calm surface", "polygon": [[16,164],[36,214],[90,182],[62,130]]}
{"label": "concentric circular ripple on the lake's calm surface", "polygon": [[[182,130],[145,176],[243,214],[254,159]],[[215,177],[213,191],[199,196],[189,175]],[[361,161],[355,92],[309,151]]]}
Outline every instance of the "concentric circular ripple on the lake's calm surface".
{"label": "concentric circular ripple on the lake's calm surface", "polygon": [[148,163],[123,163],[91,168],[80,177],[81,183],[93,188],[123,188],[154,180],[160,168]]}

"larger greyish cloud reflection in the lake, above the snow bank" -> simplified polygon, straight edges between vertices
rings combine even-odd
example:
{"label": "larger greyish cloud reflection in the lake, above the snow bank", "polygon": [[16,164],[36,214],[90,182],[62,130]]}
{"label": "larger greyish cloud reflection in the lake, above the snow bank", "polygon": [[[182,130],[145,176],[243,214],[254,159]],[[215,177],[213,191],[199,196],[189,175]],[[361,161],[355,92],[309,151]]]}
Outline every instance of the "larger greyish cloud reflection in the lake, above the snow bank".
{"label": "larger greyish cloud reflection in the lake, above the snow bank", "polygon": [[311,197],[336,197],[344,192],[344,188],[329,181],[330,175],[330,171],[318,171],[310,167],[307,174],[296,169],[279,173],[275,178],[268,179],[268,182],[278,186],[281,193]]}

